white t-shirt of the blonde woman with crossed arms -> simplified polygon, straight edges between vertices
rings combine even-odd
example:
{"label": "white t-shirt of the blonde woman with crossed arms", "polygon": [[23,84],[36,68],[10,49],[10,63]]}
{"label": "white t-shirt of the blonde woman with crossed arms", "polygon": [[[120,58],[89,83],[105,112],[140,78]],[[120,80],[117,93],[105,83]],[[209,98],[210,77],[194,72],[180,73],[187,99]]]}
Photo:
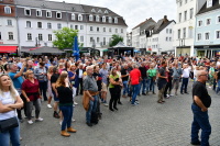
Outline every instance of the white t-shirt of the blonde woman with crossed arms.
{"label": "white t-shirt of the blonde woman with crossed arms", "polygon": [[[19,96],[19,92],[15,90],[15,96]],[[14,99],[11,97],[10,92],[3,92],[3,96],[0,96],[0,102],[6,105],[6,104],[14,104],[15,101]],[[7,120],[10,117],[14,117],[16,116],[16,112],[14,111],[10,111],[10,112],[6,112],[6,113],[0,113],[0,121],[1,120]]]}

